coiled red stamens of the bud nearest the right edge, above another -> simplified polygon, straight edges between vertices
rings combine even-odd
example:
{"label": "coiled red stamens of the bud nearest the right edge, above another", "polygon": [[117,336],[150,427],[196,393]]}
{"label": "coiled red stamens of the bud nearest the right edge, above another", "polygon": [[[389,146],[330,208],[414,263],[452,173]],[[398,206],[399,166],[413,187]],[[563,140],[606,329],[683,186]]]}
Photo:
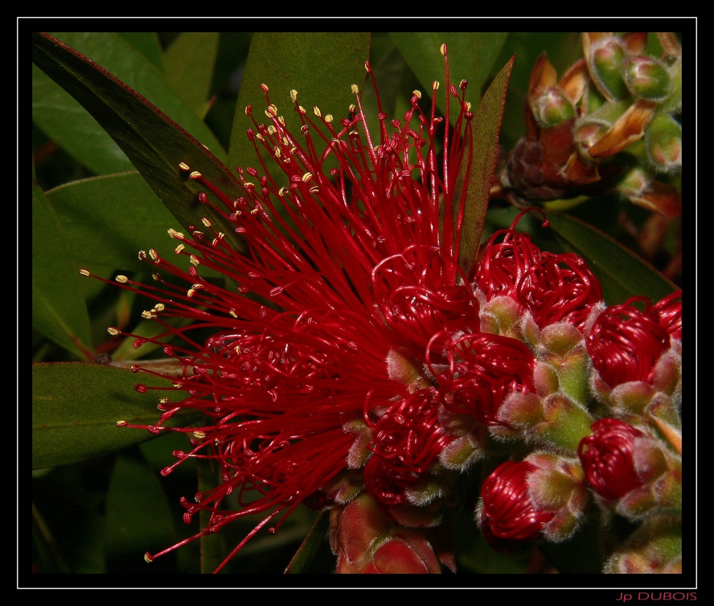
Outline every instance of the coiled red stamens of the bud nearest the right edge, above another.
{"label": "coiled red stamens of the bud nearest the right edge, above another", "polygon": [[[609,387],[630,381],[650,381],[660,356],[670,347],[670,334],[681,337],[681,302],[676,293],[652,306],[633,297],[603,310],[585,338],[593,367]],[[645,309],[635,307],[645,302]]]}

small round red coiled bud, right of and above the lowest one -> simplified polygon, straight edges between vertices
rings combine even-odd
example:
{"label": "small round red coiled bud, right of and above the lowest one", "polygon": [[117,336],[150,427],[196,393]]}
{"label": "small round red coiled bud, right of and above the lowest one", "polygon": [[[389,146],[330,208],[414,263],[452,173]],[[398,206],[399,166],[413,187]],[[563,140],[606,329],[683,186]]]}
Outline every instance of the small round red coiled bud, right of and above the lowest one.
{"label": "small round red coiled bud, right of and above the lowest one", "polygon": [[593,434],[580,440],[578,456],[588,485],[607,500],[620,499],[643,485],[635,470],[634,440],[645,434],[618,419],[593,423]]}

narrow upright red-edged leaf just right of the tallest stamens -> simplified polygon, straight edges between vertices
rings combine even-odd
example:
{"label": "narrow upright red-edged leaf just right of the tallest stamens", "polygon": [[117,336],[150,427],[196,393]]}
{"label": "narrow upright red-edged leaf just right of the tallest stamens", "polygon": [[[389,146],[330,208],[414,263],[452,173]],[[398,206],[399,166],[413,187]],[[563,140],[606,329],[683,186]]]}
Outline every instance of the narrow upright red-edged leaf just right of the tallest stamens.
{"label": "narrow upright red-edged leaf just right of the tallest stamens", "polygon": [[[454,199],[461,199],[461,188],[466,187],[466,203],[463,211],[461,227],[461,247],[458,252],[458,264],[470,275],[478,244],[481,242],[483,223],[488,209],[488,197],[491,191],[493,172],[496,170],[498,157],[498,137],[503,119],[503,105],[506,103],[508,78],[513,69],[513,60],[508,61],[496,78],[488,86],[486,94],[473,112],[473,158],[471,169],[466,179],[467,162],[461,166],[454,192]],[[458,206],[454,205],[454,212],[458,213]]]}

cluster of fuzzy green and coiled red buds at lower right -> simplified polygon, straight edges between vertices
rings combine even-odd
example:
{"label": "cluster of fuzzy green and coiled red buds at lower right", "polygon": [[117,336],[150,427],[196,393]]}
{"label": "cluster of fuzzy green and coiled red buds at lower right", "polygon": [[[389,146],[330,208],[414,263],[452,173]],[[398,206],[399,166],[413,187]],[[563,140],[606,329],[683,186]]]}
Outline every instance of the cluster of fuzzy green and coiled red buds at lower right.
{"label": "cluster of fuzzy green and coiled red buds at lower right", "polygon": [[[536,272],[542,257],[553,257],[550,281]],[[603,520],[616,515],[639,525],[614,548],[605,572],[677,572],[681,291],[655,304],[635,297],[606,306],[582,260],[540,252],[523,234],[500,244],[491,238],[476,284],[492,289],[479,294],[488,301],[482,314],[499,310],[482,327],[522,339],[535,357],[532,388],[506,396],[489,427],[492,437],[521,439],[533,450],[501,463],[483,483],[476,517],[488,542],[505,552],[560,542],[595,506]],[[541,316],[543,299],[533,296],[547,288],[562,297],[548,301],[555,317]]]}

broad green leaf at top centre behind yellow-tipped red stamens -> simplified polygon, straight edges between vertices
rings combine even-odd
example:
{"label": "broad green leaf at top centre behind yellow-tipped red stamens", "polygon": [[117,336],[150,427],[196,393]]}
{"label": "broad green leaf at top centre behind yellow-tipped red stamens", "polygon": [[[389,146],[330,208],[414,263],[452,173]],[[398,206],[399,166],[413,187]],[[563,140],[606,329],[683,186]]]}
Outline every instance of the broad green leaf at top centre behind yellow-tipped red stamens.
{"label": "broad green leaf at top centre behind yellow-tipped red stamens", "polygon": [[[233,119],[228,165],[256,167],[256,153],[246,137],[246,130],[254,126],[245,108],[255,108],[258,124],[265,121],[263,110],[267,104],[261,84],[268,86],[271,103],[278,106],[278,113],[296,136],[301,121],[290,99],[293,89],[298,91],[298,103],[311,114],[313,106],[318,106],[323,114],[333,114],[336,121],[347,116],[355,100],[351,85],[361,89],[366,76],[369,39],[368,33],[360,32],[253,34]],[[319,144],[314,135],[313,141]],[[281,177],[277,172],[274,176]]]}

